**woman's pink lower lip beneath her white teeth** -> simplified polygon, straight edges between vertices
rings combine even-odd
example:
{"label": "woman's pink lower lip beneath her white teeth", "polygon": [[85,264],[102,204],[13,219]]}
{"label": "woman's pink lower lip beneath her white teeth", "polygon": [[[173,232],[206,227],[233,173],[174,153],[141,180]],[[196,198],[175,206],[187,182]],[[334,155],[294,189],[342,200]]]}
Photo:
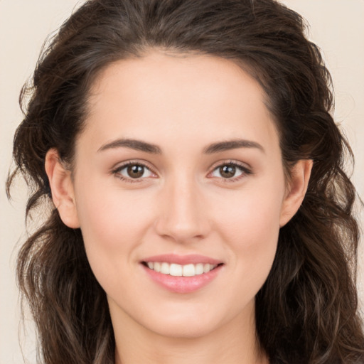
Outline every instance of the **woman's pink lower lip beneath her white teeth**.
{"label": "woman's pink lower lip beneath her white teeth", "polygon": [[162,274],[143,265],[146,273],[160,286],[175,293],[191,293],[198,291],[209,284],[219,274],[222,265],[219,265],[208,273],[198,274],[193,277],[174,277],[169,274]]}

